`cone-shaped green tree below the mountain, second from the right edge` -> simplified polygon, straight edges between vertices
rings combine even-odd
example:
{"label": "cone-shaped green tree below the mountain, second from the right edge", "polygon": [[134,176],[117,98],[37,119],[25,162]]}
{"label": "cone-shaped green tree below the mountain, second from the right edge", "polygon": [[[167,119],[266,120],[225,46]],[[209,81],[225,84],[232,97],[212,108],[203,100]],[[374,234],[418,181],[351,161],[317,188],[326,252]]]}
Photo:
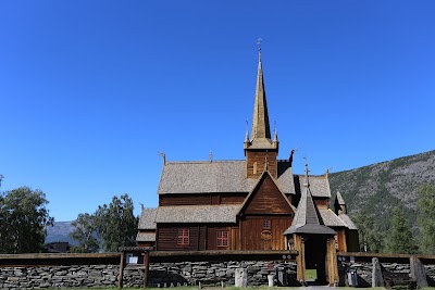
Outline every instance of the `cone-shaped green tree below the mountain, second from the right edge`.
{"label": "cone-shaped green tree below the mountain, second from the right edge", "polygon": [[391,228],[385,250],[393,254],[414,254],[418,252],[409,223],[399,207],[393,210]]}

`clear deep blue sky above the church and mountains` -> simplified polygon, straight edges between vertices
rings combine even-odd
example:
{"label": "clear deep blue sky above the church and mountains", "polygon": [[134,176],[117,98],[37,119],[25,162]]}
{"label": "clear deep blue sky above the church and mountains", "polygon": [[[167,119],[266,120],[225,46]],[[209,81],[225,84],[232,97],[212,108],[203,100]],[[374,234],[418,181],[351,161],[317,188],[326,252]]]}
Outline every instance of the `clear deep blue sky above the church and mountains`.
{"label": "clear deep blue sky above the church and mountains", "polygon": [[2,190],[54,218],[169,161],[243,160],[257,39],[279,156],[339,172],[435,149],[435,1],[1,1]]}

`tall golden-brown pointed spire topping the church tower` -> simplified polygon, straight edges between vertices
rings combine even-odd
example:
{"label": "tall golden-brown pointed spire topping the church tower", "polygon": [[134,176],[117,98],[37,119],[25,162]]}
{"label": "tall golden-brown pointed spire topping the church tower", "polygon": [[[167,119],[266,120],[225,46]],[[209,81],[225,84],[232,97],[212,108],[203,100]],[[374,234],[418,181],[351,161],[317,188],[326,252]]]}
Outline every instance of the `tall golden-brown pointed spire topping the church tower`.
{"label": "tall golden-brown pointed spire topping the church tower", "polygon": [[261,63],[261,46],[259,40],[259,64],[257,72],[256,101],[253,104],[252,133],[251,140],[271,139],[271,128],[269,125],[268,102],[265,99],[263,67]]}

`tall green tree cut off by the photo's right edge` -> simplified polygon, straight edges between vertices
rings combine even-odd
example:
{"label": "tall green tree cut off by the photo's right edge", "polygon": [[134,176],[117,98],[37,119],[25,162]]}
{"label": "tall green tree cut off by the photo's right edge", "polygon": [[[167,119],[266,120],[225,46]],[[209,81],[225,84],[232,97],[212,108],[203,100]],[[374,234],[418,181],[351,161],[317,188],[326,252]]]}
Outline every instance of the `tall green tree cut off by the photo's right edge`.
{"label": "tall green tree cut off by the photo's right edge", "polygon": [[435,254],[435,186],[422,186],[417,192],[421,230],[421,251]]}

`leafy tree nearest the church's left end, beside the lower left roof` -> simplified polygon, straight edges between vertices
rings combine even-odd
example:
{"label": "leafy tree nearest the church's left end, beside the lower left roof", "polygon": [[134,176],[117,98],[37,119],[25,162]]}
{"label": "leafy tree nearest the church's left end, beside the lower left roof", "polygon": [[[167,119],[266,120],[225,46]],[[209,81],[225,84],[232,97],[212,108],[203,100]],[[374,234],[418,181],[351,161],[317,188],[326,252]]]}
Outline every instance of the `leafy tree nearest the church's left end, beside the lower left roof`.
{"label": "leafy tree nearest the church's left end, beside the lower left roof", "polygon": [[117,252],[121,245],[136,243],[138,217],[133,214],[133,200],[128,194],[112,202],[98,206],[95,213],[98,236],[102,239],[105,252]]}

